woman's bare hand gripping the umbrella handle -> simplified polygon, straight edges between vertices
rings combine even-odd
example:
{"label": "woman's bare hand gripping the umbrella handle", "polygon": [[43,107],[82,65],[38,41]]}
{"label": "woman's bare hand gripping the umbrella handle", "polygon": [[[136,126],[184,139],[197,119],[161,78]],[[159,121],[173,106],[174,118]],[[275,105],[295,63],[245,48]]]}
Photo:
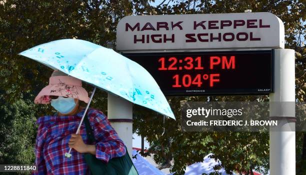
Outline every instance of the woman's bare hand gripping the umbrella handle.
{"label": "woman's bare hand gripping the umbrella handle", "polygon": [[95,155],[95,145],[85,144],[80,134],[72,133],[68,145],[79,153],[91,153]]}

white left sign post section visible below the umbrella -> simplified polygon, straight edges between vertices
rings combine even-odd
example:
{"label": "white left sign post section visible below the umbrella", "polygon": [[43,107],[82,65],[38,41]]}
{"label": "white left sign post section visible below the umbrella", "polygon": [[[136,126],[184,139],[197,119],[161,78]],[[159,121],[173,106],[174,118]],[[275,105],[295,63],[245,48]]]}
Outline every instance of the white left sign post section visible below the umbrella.
{"label": "white left sign post section visible below the umbrella", "polygon": [[108,93],[107,118],[124,142],[128,154],[132,156],[132,103],[114,94]]}

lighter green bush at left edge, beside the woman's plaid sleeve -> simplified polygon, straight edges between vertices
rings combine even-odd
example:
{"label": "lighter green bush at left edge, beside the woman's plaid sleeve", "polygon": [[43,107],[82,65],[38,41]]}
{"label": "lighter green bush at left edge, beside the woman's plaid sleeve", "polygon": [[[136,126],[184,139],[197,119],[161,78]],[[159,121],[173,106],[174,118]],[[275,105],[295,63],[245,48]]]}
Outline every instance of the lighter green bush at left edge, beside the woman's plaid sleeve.
{"label": "lighter green bush at left edge, beside the woman's plaid sleeve", "polygon": [[0,103],[0,163],[32,164],[36,136],[34,114],[37,108],[22,99],[11,105],[7,105],[3,99]]}

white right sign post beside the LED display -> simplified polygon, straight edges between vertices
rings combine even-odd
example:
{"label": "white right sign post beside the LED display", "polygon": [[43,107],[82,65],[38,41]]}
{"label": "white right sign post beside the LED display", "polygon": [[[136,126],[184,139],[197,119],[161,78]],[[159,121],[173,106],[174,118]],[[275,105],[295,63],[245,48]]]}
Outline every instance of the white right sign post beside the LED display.
{"label": "white right sign post beside the LED display", "polygon": [[288,131],[295,123],[284,120],[295,116],[294,50],[275,49],[274,55],[274,93],[269,100],[270,117],[278,118],[278,126],[270,126],[270,174],[295,175],[295,131]]}

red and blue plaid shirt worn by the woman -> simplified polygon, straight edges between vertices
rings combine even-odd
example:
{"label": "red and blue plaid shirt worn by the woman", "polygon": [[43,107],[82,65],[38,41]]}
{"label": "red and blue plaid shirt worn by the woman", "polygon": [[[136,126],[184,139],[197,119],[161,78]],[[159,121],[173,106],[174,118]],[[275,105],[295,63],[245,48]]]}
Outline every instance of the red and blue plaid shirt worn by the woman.
{"label": "red and blue plaid shirt worn by the woman", "polygon": [[[35,144],[35,164],[38,172],[33,174],[89,174],[89,168],[83,155],[72,148],[72,156],[64,156],[68,152],[68,141],[76,132],[84,109],[74,116],[46,115],[37,119],[39,124]],[[123,141],[111,127],[106,115],[96,109],[88,109],[88,119],[94,132],[95,156],[104,162],[113,157],[123,156],[126,152]],[[79,134],[88,144],[85,124],[81,124]]]}

